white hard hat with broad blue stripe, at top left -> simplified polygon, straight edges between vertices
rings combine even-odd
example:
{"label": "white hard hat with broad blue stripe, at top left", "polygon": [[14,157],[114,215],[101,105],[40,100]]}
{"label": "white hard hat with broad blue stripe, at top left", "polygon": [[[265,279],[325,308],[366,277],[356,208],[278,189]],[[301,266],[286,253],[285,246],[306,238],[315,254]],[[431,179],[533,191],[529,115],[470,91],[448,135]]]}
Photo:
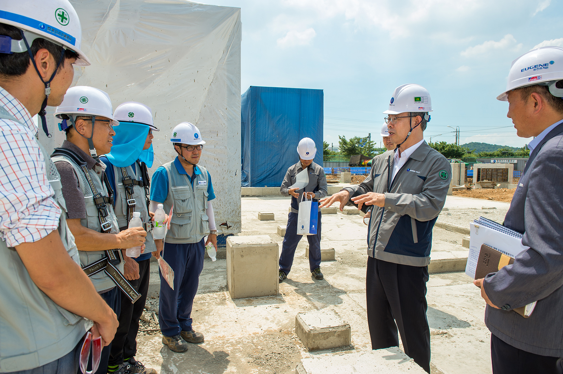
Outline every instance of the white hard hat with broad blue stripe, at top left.
{"label": "white hard hat with broad blue stripe, at top left", "polygon": [[[80,50],[82,27],[74,7],[68,0],[12,0],[0,4],[0,23],[24,30],[29,47],[36,38],[67,47],[76,52],[74,64],[90,65],[90,60]],[[4,53],[26,52],[24,40],[10,40],[11,48]],[[56,57],[58,58],[58,56]]]}

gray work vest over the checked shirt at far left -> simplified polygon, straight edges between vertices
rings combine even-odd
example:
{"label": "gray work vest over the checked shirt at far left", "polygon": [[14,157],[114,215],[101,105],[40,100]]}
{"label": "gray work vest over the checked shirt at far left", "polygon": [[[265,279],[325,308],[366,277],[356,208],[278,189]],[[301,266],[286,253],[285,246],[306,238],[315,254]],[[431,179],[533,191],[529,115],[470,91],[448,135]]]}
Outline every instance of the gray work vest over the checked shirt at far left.
{"label": "gray work vest over the checked shirt at far left", "polygon": [[[19,122],[6,115],[0,118]],[[76,262],[78,250],[66,226],[66,205],[59,172],[38,142],[46,165],[47,179],[62,209],[59,234],[69,256]],[[0,241],[0,373],[30,370],[63,357],[84,336],[86,319],[59,307],[35,285],[13,247]]]}

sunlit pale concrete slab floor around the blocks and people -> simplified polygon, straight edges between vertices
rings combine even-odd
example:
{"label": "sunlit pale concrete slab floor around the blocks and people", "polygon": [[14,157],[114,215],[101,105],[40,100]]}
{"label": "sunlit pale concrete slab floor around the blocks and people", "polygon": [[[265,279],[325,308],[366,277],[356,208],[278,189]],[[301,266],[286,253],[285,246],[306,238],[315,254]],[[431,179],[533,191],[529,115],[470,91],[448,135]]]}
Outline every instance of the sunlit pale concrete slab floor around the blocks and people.
{"label": "sunlit pale concrete slab floor around the blocks and people", "polygon": [[[455,200],[452,205],[466,210],[478,206],[479,211],[475,213],[482,214],[482,200],[462,197],[452,200]],[[491,204],[498,202],[488,202]],[[243,232],[240,235],[269,235],[279,242],[281,250],[283,238],[277,235],[276,228],[287,222],[288,205],[289,199],[284,197],[243,198]],[[495,211],[502,208],[499,206]],[[272,211],[276,219],[259,221],[258,211]],[[449,219],[450,216],[444,213],[440,220]],[[292,271],[288,279],[280,283],[278,296],[231,300],[225,286],[226,260],[211,262],[205,256],[192,313],[193,327],[205,335],[205,342],[190,344],[185,353],[173,353],[162,345],[159,331],[140,331],[137,359],[161,374],[289,374],[295,372],[302,358],[333,351],[351,353],[356,349],[369,349],[365,310],[367,226],[362,223],[361,215],[338,212],[323,215],[322,219],[321,247],[336,249],[336,260],[321,263],[324,280],[311,277],[309,260],[305,258],[307,241],[301,240]],[[468,221],[470,218],[464,219]],[[436,228],[431,256],[467,253],[461,246],[463,236]],[[490,333],[483,322],[485,303],[479,289],[462,272],[431,274],[427,288],[432,372],[490,373]],[[352,344],[334,350],[308,352],[295,334],[296,314],[325,308],[335,310],[350,323]]]}

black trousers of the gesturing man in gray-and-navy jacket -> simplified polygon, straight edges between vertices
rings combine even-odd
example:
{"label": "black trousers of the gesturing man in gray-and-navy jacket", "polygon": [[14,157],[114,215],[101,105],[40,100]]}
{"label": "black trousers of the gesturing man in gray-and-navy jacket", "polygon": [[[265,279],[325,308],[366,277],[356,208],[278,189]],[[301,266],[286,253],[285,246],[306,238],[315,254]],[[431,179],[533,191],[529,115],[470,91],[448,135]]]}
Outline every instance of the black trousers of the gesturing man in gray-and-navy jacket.
{"label": "black trousers of the gesturing man in gray-and-navy jacket", "polygon": [[430,328],[426,319],[428,267],[368,257],[365,291],[372,349],[399,346],[430,373]]}

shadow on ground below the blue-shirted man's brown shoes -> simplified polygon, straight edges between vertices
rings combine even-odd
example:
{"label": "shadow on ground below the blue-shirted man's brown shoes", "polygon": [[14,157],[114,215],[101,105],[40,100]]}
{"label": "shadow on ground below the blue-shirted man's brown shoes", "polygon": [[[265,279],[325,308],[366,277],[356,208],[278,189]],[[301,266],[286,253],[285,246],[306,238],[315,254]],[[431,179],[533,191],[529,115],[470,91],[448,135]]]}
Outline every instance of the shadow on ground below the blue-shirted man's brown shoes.
{"label": "shadow on ground below the blue-shirted man's brown shoes", "polygon": [[208,352],[203,346],[190,344],[186,352],[175,353],[163,346],[160,349],[162,366],[160,374],[177,373],[224,373],[231,362],[224,350]]}

